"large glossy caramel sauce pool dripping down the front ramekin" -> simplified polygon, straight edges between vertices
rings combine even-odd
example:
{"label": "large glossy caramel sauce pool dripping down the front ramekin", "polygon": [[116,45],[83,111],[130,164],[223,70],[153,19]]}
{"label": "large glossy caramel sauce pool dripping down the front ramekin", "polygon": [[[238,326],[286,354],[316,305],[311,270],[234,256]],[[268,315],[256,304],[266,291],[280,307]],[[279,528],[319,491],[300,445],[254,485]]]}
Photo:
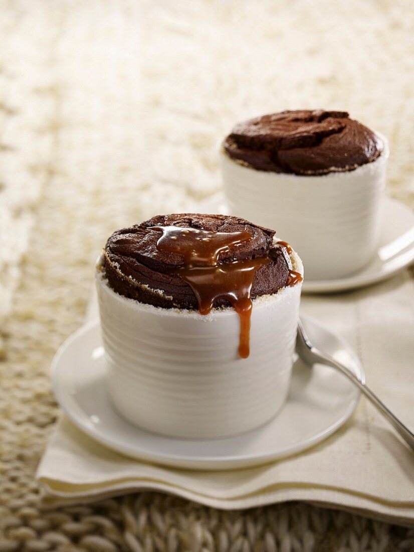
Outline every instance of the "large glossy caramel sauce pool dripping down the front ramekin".
{"label": "large glossy caramel sauce pool dripping down the front ramekin", "polygon": [[239,354],[241,358],[247,358],[252,309],[251,288],[256,271],[270,263],[270,259],[243,259],[219,264],[221,252],[251,240],[249,232],[211,232],[179,226],[152,228],[163,232],[157,242],[159,251],[179,254],[184,258],[184,266],[174,269],[173,273],[191,286],[200,314],[208,314],[218,299],[225,299],[233,306],[240,317]]}

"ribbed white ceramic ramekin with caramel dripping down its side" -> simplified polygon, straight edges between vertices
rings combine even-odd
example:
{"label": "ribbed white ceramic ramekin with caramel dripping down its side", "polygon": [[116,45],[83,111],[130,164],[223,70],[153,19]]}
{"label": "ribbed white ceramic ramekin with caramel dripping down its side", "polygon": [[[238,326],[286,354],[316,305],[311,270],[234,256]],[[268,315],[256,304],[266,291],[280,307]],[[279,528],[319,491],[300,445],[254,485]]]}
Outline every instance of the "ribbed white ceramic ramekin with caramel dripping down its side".
{"label": "ribbed white ceramic ramekin with caramel dripping down its side", "polygon": [[[294,269],[303,273],[297,254]],[[254,300],[250,356],[239,358],[231,309],[202,316],[126,299],[96,269],[107,390],[117,411],[148,431],[218,438],[270,420],[291,380],[302,284]]]}

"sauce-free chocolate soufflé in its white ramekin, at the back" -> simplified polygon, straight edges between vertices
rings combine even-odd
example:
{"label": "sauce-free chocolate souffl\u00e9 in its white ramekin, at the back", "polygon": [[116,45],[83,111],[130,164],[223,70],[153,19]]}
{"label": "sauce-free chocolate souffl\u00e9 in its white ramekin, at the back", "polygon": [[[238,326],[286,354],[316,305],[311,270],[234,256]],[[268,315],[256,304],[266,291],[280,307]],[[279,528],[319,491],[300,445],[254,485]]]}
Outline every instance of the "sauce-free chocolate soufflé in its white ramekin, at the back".
{"label": "sauce-free chocolate souffl\u00e9 in its white ramekin, at the back", "polygon": [[297,110],[238,123],[219,153],[228,212],[277,231],[311,280],[375,256],[388,142],[348,113]]}

